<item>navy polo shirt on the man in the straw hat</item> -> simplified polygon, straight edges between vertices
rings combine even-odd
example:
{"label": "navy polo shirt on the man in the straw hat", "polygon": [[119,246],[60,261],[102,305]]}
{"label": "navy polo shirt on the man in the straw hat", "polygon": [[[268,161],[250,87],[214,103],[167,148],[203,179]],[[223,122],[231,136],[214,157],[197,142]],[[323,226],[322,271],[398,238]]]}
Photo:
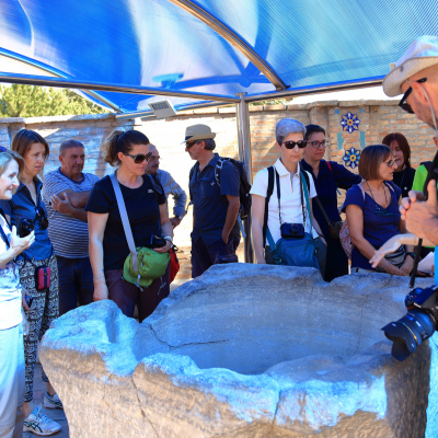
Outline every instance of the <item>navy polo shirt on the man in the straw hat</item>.
{"label": "navy polo shirt on the man in the straw hat", "polygon": [[[226,223],[229,196],[239,196],[240,174],[233,164],[226,161],[220,172],[220,187],[215,177],[216,164],[219,155],[215,153],[210,162],[199,172],[199,163],[193,166],[189,181],[191,197],[195,214],[195,223],[192,239],[195,242],[203,238],[206,245],[218,241],[222,237]],[[235,221],[230,235],[239,235],[239,223]]]}

